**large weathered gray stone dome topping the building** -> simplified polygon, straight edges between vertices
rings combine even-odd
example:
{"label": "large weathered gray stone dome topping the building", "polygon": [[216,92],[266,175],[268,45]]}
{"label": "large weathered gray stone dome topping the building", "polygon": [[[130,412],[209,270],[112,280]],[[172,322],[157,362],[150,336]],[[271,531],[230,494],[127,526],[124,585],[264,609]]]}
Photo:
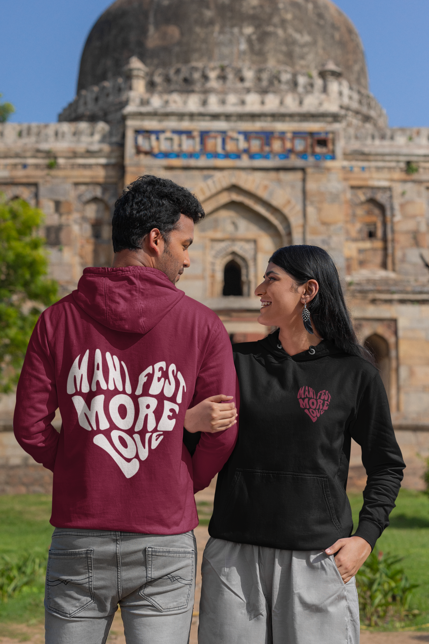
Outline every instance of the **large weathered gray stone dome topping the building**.
{"label": "large weathered gray stone dome topping the building", "polygon": [[122,75],[131,56],[150,70],[219,63],[314,73],[332,61],[352,87],[368,89],[359,34],[329,0],[116,0],[87,37],[78,91]]}

